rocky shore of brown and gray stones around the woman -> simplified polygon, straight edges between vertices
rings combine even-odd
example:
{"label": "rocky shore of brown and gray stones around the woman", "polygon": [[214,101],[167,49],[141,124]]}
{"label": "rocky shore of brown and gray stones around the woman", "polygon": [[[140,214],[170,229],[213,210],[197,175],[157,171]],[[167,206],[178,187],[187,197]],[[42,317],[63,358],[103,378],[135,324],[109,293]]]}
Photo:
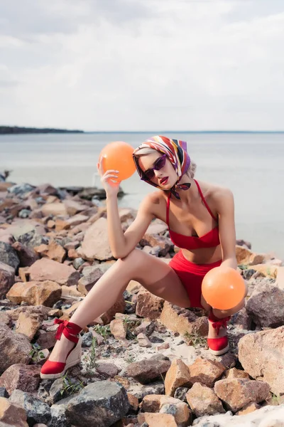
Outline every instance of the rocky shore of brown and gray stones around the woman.
{"label": "rocky shore of brown and gray stones around the woman", "polygon": [[[131,280],[82,332],[82,363],[40,380],[54,319],[68,320],[115,263],[104,194],[90,193],[0,181],[0,427],[284,426],[284,266],[245,241],[236,254],[249,295],[227,354],[209,353],[203,310]],[[135,216],[120,210],[124,229]],[[178,251],[157,220],[138,248],[165,263]]]}

